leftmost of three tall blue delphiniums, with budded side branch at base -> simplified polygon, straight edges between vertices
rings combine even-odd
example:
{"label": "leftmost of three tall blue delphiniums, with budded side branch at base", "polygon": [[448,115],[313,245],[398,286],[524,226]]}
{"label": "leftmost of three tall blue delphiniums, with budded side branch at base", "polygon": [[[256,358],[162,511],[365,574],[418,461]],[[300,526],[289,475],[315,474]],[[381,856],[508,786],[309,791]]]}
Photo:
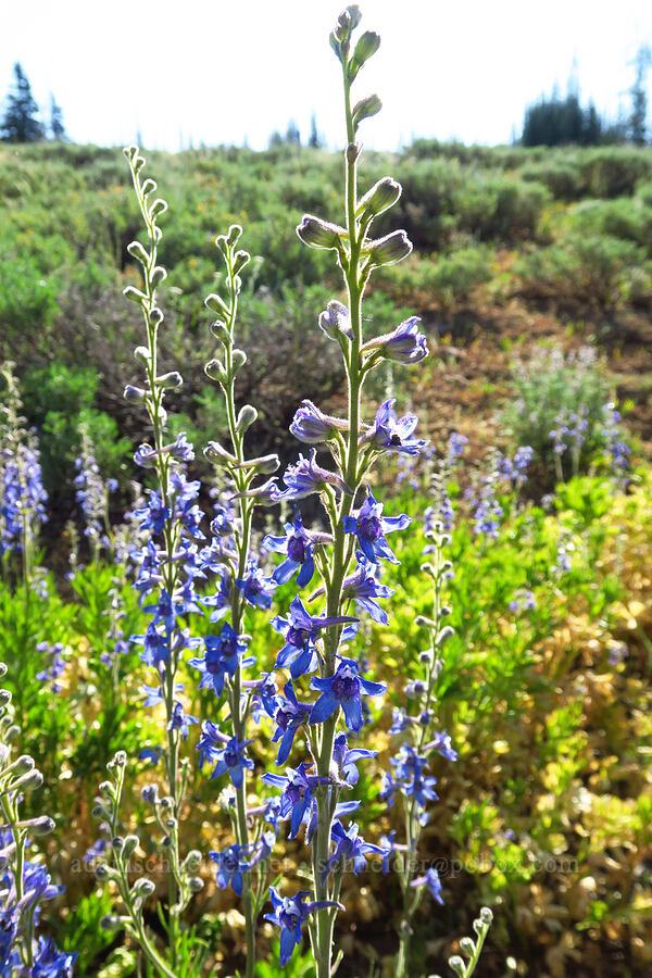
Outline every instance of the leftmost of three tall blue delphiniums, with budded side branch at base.
{"label": "leftmost of three tall blue delphiniums, with budded side branch at base", "polygon": [[[189,726],[196,722],[179,699],[179,684],[176,681],[181,657],[187,650],[197,648],[199,639],[189,634],[185,626],[186,616],[199,604],[193,592],[195,582],[205,578],[198,555],[203,532],[199,523],[197,506],[199,482],[187,478],[185,466],[192,459],[192,449],[185,436],[170,440],[166,436],[167,412],[164,408],[166,391],[178,390],[183,384],[180,375],[173,371],[159,373],[158,336],[163,323],[163,313],[156,301],[156,287],[165,277],[158,264],[158,248],[162,233],[158,226],[160,215],[166,210],[161,199],[153,199],[155,184],[142,180],[145,160],[137,147],[125,150],[129,162],[136,197],[147,231],[147,247],[138,241],[128,247],[129,254],[142,269],[142,288],[128,286],[125,296],[141,310],[146,346],[136,349],[135,355],[145,377],[142,386],[129,385],[125,398],[134,404],[141,404],[147,413],[153,432],[153,446],[141,446],[136,452],[136,462],[150,468],[153,488],[148,490],[141,505],[134,509],[133,521],[141,532],[147,531],[139,553],[131,550],[131,559],[137,568],[134,587],[139,593],[143,610],[151,614],[145,631],[131,636],[131,641],[140,645],[140,659],[152,669],[154,684],[145,702],[151,706],[162,705],[165,710],[163,729],[164,744],[148,748],[149,754],[161,758],[165,778],[166,798],[165,822],[159,820],[162,836],[159,840],[168,873],[168,906],[166,915],[167,946],[159,952],[147,933],[142,916],[147,895],[154,890],[149,879],[137,880],[130,887],[126,866],[138,839],[129,836],[126,840],[118,836],[120,802],[124,787],[126,757],[118,752],[109,770],[114,786],[109,791],[105,782],[97,814],[111,826],[111,840],[106,862],[100,864],[96,875],[100,879],[118,879],[118,893],[126,908],[125,917],[109,917],[105,926],[120,929],[125,926],[137,938],[151,966],[164,975],[175,975],[178,955],[185,942],[181,929],[181,914],[192,894],[201,889],[201,879],[192,868],[192,861],[184,858],[180,852],[178,823],[186,785],[189,762],[181,760],[180,749],[188,736]],[[97,517],[97,513],[93,518]],[[162,811],[156,807],[156,814]],[[135,841],[134,841],[135,840]]]}

